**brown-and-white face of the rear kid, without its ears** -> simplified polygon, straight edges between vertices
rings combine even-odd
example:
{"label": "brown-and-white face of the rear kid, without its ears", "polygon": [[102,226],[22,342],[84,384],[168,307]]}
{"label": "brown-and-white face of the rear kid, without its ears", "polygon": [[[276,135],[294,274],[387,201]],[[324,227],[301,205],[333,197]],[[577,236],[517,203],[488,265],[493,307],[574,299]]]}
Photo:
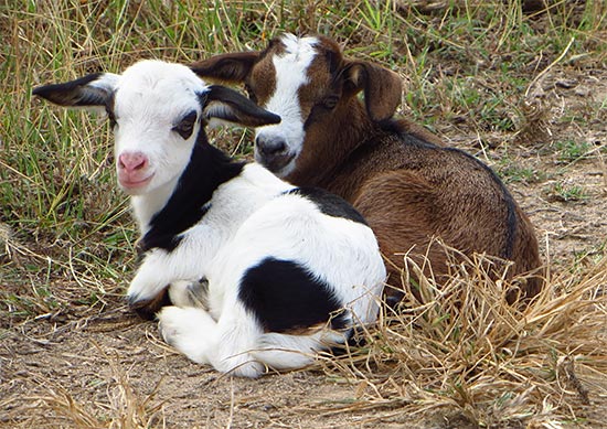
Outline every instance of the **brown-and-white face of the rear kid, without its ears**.
{"label": "brown-and-white face of the rear kid, without its ears", "polygon": [[330,122],[341,98],[336,71],[339,46],[321,37],[287,34],[275,41],[246,81],[251,98],[280,116],[278,125],[257,129],[255,160],[278,176],[289,175],[309,147],[308,132],[317,122]]}

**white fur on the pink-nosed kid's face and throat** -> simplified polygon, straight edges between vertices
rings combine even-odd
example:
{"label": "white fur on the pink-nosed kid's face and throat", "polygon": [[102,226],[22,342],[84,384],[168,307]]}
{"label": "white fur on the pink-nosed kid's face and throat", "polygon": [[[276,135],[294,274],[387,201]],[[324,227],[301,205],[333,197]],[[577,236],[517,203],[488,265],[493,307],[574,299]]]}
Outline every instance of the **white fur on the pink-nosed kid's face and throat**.
{"label": "white fur on the pink-nosed kid's face and throat", "polygon": [[[106,75],[103,81],[105,78]],[[118,122],[114,147],[116,162],[125,152],[142,152],[149,160],[141,174],[151,175],[150,183],[136,191],[125,190],[134,196],[135,216],[145,234],[151,216],[173,193],[192,152],[193,141],[184,144],[171,128],[180,115],[190,110],[200,116],[196,93],[203,92],[205,85],[188,67],[179,64],[167,67],[160,61],[136,63],[123,75],[111,75],[111,83],[116,90],[115,116]],[[199,121],[192,136],[195,137],[200,127]]]}

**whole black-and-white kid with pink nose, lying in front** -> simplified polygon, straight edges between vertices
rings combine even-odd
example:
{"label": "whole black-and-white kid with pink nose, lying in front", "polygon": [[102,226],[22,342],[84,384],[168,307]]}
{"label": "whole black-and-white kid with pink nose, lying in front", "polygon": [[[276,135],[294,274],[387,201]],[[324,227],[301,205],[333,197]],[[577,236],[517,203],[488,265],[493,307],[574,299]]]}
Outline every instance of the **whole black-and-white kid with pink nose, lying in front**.
{"label": "whole black-and-white kid with pink nose, lying in front", "polygon": [[160,310],[163,339],[190,360],[248,377],[299,368],[376,320],[385,268],[364,218],[323,190],[230,159],[205,133],[278,116],[151,60],[33,94],[107,111],[142,236],[127,297],[143,314]]}

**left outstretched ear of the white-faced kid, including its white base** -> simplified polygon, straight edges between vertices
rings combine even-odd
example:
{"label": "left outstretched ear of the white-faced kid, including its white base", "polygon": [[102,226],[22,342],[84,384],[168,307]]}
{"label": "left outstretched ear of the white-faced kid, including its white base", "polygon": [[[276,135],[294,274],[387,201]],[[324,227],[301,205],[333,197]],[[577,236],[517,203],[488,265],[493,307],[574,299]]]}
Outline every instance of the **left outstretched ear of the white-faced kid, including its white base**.
{"label": "left outstretched ear of the white-faced kid, including its white base", "polygon": [[120,75],[114,73],[94,73],[63,84],[39,86],[32,94],[60,106],[98,109],[108,105],[119,79]]}

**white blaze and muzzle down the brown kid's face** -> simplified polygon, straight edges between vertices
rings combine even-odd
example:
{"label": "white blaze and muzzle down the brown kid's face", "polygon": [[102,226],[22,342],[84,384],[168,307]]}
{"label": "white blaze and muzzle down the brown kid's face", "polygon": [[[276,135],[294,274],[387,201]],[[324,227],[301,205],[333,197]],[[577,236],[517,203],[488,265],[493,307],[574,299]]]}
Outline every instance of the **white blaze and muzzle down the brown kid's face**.
{"label": "white blaze and muzzle down the brown kid's face", "polygon": [[[298,39],[287,34],[281,39],[285,52],[274,54],[276,88],[264,108],[280,116],[280,124],[258,128],[255,135],[255,160],[269,168],[276,175],[286,176],[295,169],[297,157],[303,148],[306,131],[299,100],[299,88],[309,82],[307,71],[316,56],[316,37]],[[276,144],[284,144],[278,150]],[[266,147],[264,147],[264,143]],[[271,153],[271,148],[275,151]],[[264,151],[264,148],[266,150]]]}

